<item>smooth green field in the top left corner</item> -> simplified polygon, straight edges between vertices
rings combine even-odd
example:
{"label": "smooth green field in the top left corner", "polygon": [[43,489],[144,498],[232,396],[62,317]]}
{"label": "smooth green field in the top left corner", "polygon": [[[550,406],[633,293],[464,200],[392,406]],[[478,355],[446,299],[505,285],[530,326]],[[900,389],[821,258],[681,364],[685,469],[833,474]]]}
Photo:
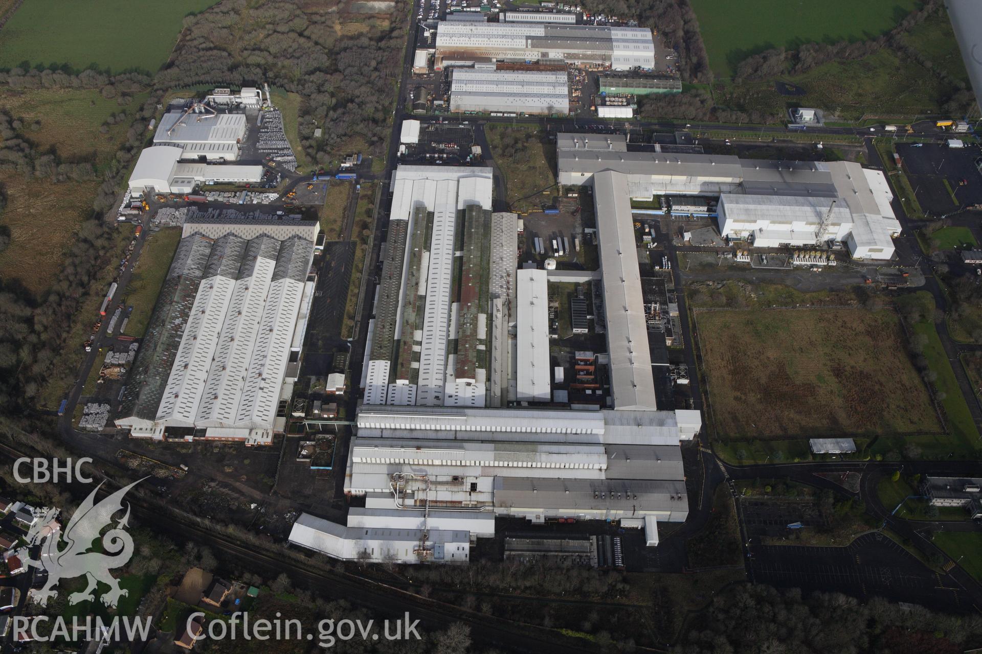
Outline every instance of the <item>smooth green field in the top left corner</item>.
{"label": "smooth green field in the top left corner", "polygon": [[184,18],[213,4],[215,0],[30,0],[0,32],[0,68],[27,62],[156,73],[177,43]]}

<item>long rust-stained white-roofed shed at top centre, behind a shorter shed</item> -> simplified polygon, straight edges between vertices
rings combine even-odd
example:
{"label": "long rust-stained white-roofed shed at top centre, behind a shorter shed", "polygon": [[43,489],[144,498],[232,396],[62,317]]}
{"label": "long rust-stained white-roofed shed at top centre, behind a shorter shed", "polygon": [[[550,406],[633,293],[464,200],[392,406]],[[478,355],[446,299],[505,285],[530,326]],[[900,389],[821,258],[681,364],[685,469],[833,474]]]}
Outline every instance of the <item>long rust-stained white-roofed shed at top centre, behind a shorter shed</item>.
{"label": "long rust-stained white-roofed shed at top centre, behind a shorter shed", "polygon": [[646,27],[468,21],[437,27],[435,70],[495,61],[650,70],[655,67],[655,43]]}

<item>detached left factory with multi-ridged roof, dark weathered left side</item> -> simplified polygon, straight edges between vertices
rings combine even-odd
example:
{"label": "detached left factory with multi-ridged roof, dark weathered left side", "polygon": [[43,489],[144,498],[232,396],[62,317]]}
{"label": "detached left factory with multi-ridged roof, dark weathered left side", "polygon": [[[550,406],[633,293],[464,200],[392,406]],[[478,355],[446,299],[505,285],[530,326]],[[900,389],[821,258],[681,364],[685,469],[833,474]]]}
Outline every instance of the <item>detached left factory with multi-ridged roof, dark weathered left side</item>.
{"label": "detached left factory with multi-ridged roof, dark weathered left side", "polygon": [[178,245],[116,426],[155,440],[269,444],[299,374],[315,283],[306,236],[317,224],[198,225]]}

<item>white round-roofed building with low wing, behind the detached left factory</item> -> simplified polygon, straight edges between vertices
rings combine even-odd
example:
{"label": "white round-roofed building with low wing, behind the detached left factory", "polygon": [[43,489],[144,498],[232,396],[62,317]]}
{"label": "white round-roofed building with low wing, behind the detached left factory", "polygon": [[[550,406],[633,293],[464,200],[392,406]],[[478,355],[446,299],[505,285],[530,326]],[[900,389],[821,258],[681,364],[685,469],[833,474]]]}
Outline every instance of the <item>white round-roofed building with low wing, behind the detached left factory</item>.
{"label": "white round-roofed building with low wing, behind the detached left factory", "polygon": [[262,166],[224,166],[182,162],[179,147],[157,145],[143,148],[130,176],[130,192],[140,197],[156,193],[191,193],[201,183],[258,183]]}

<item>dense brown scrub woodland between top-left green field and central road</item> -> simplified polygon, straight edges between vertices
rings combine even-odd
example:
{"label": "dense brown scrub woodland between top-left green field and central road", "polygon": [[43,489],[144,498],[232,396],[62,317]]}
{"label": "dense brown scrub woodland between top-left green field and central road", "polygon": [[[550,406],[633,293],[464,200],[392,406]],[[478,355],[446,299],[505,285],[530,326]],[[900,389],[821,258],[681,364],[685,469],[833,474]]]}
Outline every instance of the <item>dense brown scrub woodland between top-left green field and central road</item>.
{"label": "dense brown scrub woodland between top-left green field and central road", "polygon": [[[392,17],[405,17],[397,2]],[[345,17],[349,22],[350,17]],[[405,24],[359,17],[366,31],[339,35],[335,13],[305,13],[297,4],[269,2],[246,11],[243,0],[223,2],[187,19],[186,31],[159,87],[193,84],[250,85],[262,80],[303,97],[300,145],[325,164],[349,139],[382,153],[401,74]],[[248,46],[242,47],[241,34]],[[315,128],[323,137],[314,139]]]}

